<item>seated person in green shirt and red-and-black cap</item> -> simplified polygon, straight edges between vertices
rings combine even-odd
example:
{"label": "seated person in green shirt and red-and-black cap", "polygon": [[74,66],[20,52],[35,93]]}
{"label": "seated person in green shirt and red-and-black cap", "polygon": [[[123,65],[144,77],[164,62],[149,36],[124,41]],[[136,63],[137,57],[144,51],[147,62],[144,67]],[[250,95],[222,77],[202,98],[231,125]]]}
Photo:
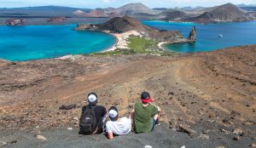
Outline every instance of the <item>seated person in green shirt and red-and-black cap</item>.
{"label": "seated person in green shirt and red-and-black cap", "polygon": [[147,133],[154,129],[154,125],[160,118],[160,107],[150,104],[150,94],[141,94],[142,102],[137,102],[133,112],[133,131],[136,133]]}

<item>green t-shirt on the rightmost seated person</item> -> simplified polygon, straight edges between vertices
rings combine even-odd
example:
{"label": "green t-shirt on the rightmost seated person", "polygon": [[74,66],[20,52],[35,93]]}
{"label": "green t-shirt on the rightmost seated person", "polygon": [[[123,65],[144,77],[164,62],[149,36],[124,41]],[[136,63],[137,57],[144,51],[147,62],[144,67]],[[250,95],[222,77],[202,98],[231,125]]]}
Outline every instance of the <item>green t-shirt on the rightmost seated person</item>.
{"label": "green t-shirt on the rightmost seated person", "polygon": [[145,107],[143,103],[137,102],[134,111],[134,130],[137,133],[150,132],[153,128],[153,117],[158,112],[158,108],[151,104]]}

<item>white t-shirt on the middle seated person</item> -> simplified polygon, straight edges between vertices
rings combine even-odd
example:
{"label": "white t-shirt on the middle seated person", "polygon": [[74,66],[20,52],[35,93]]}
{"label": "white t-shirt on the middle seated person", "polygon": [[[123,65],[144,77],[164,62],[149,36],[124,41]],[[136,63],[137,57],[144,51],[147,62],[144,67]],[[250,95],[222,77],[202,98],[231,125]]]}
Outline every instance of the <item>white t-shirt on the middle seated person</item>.
{"label": "white t-shirt on the middle seated person", "polygon": [[131,118],[122,117],[119,121],[108,121],[106,123],[107,133],[112,132],[113,134],[129,134],[131,131]]}

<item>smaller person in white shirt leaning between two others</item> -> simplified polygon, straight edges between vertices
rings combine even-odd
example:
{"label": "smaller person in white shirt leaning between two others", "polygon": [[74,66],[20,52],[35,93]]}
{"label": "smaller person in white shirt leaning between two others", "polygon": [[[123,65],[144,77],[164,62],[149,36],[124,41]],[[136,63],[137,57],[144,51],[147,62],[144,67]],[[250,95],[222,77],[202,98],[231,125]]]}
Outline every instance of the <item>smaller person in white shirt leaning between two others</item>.
{"label": "smaller person in white shirt leaning between two others", "polygon": [[110,121],[106,123],[106,132],[108,139],[113,139],[113,135],[124,135],[131,132],[131,117],[119,118],[118,109],[111,106],[108,110]]}

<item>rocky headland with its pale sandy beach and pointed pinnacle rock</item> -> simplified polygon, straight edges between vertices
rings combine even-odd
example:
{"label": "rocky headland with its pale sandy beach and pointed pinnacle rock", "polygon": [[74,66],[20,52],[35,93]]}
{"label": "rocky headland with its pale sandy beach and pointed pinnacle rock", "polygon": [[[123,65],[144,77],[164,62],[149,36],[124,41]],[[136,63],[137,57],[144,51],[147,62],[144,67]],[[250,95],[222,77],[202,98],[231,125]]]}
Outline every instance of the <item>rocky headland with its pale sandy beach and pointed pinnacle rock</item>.
{"label": "rocky headland with its pale sandy beach and pointed pinnacle rock", "polygon": [[[145,38],[145,40],[153,40],[153,43],[158,44],[158,48],[154,48],[154,51],[160,49],[161,45],[164,43],[187,43],[195,42],[196,40],[195,26],[190,31],[189,37],[185,38],[180,31],[165,31],[150,26],[145,26],[140,21],[127,15],[124,17],[115,17],[102,24],[80,24],[74,28],[74,30],[105,31],[107,33],[111,33],[113,36],[117,37],[118,43],[116,43],[116,45],[110,50],[119,49],[122,51],[124,48],[127,48],[127,40],[129,40],[130,37],[142,37]],[[162,50],[157,50],[156,54],[161,53],[160,51]],[[151,52],[152,50],[148,51],[147,53]]]}

